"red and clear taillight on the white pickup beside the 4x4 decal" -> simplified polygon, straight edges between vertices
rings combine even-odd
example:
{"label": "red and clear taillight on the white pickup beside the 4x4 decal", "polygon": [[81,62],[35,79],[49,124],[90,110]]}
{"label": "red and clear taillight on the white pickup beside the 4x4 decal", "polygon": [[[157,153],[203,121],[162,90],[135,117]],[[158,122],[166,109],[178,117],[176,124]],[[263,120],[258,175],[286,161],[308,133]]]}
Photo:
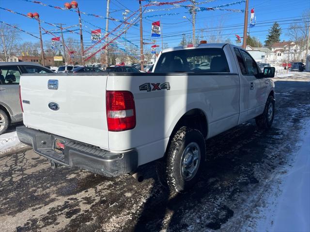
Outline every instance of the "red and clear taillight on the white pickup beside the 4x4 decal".
{"label": "red and clear taillight on the white pickup beside the 4x4 decal", "polygon": [[129,91],[107,91],[107,121],[109,131],[126,131],[136,126],[134,96]]}

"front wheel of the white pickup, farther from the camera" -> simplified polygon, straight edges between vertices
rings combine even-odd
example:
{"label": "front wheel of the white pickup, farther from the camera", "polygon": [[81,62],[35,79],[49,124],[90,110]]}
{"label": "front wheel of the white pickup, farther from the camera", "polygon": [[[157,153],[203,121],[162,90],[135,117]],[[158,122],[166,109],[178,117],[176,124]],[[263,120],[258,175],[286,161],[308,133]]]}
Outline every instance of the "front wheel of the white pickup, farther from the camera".
{"label": "front wheel of the white pickup, farther from the camera", "polygon": [[[272,113],[270,112],[270,107]],[[272,96],[269,96],[263,114],[255,118],[257,127],[261,130],[269,129],[272,125],[274,117],[275,117],[275,100]]]}

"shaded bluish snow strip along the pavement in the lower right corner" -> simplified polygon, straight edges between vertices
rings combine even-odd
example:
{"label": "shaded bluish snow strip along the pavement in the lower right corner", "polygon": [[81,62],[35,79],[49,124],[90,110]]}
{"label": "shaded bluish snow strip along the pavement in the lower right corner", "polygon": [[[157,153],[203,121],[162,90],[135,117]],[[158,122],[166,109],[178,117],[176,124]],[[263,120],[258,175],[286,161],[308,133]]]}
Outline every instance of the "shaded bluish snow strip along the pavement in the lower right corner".
{"label": "shaded bluish snow strip along the pavement in the lower right corner", "polygon": [[253,231],[310,232],[310,121],[305,123],[300,140],[291,168],[278,176],[281,184],[258,213],[263,217]]}

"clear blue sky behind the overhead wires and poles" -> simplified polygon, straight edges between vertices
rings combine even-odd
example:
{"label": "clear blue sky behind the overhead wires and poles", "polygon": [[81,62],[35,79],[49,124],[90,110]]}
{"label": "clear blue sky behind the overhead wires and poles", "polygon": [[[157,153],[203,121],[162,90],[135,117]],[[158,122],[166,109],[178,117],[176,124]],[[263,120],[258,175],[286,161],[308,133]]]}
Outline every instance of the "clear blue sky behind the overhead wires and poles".
{"label": "clear blue sky behind the overhead wires and poles", "polygon": [[[158,0],[158,1],[174,1],[174,0]],[[202,2],[205,0],[196,0],[197,2]],[[214,0],[212,2],[201,4],[200,7],[214,7],[217,5],[227,4],[231,2],[235,2],[238,0]],[[55,6],[63,7],[65,0],[42,0],[43,3],[51,4]],[[122,19],[125,9],[129,9],[130,11],[136,11],[139,8],[138,0],[110,0],[110,16]],[[147,1],[142,1],[143,4],[146,4]],[[98,14],[98,15],[106,15],[106,4],[107,0],[78,0],[80,11]],[[180,3],[181,5],[189,4],[188,2]],[[50,22],[50,23],[63,23],[66,26],[76,25],[78,24],[78,14],[69,11],[62,11],[46,6],[42,6],[40,4],[35,4],[31,2],[26,2],[23,0],[0,0],[0,7],[8,8],[10,10],[27,14],[28,12],[38,12],[40,14],[41,20]],[[146,10],[154,9],[166,9],[171,8],[171,5],[165,6],[150,6]],[[245,3],[236,4],[233,6],[225,7],[223,9],[244,9]],[[275,21],[283,21],[279,22],[281,28],[283,29],[281,40],[287,40],[287,28],[289,27],[289,23],[293,21],[285,21],[300,18],[302,12],[305,9],[310,9],[310,0],[249,0],[249,10],[251,8],[255,8],[256,13],[256,21],[257,25],[250,30],[250,35],[258,37],[261,42],[263,42],[267,35],[267,30]],[[119,11],[121,10],[121,11]],[[183,16],[191,17],[186,9],[176,8],[171,9],[170,11],[156,11],[144,13],[143,16],[156,15],[156,14],[167,14],[167,13],[176,13],[176,15],[165,15],[165,16],[156,16],[148,19],[143,19],[143,38],[145,41],[151,39],[151,23],[152,21],[160,20],[162,24],[162,33],[164,38],[164,43],[168,43],[168,46],[176,46],[180,43],[182,38],[182,33],[186,33],[188,37],[191,36],[192,25]],[[177,14],[178,13],[178,14]],[[130,14],[130,13],[129,13]],[[83,15],[82,18],[92,23],[93,25],[100,26],[105,28],[106,20],[101,18],[96,18],[89,15]],[[16,24],[21,29],[29,31],[34,35],[38,36],[38,25],[35,20],[28,19],[24,16],[18,14],[12,14],[10,12],[0,10],[0,20],[7,22],[9,24]],[[139,20],[138,20],[139,22]],[[214,30],[214,28],[218,26],[226,27],[225,30],[222,30],[223,37],[230,38],[234,43],[235,36],[234,34],[243,35],[243,22],[244,22],[244,13],[234,13],[228,11],[202,11],[197,13],[196,19],[196,35],[201,37],[200,29],[209,29]],[[259,24],[263,23],[263,24]],[[87,24],[84,23],[86,26]],[[109,22],[109,30],[114,29],[118,22],[110,21]],[[45,29],[55,29],[52,26],[42,24]],[[84,28],[85,30],[90,31],[91,29],[97,29],[93,26],[87,25],[88,28]],[[229,27],[232,26],[232,27]],[[74,28],[78,29],[78,27]],[[207,33],[203,31],[203,36]],[[38,41],[36,38],[31,37],[28,34],[21,33],[23,41]],[[90,34],[83,32],[84,35],[84,43],[85,46],[91,44]],[[64,33],[65,40],[68,37],[73,37],[78,39],[78,34],[72,33]],[[132,27],[128,30],[126,37],[128,40],[133,43],[140,45],[139,37],[139,27]],[[169,37],[167,37],[169,36]],[[44,40],[50,40],[53,36],[51,35],[43,35]],[[118,40],[120,43],[124,43],[122,40]],[[161,44],[160,40],[158,44]]]}

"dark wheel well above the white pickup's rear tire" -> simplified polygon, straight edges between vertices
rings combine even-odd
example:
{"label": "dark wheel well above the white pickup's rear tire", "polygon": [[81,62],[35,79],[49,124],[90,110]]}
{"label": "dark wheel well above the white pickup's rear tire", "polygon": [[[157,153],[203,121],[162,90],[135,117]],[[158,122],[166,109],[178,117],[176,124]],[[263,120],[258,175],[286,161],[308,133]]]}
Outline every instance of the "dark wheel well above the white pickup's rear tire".
{"label": "dark wheel well above the white pickup's rear tire", "polygon": [[200,109],[192,109],[190,111],[187,111],[175,125],[171,133],[171,137],[182,126],[188,126],[188,127],[201,131],[203,134],[203,137],[205,138],[208,135],[207,118],[205,114],[202,112],[202,110]]}

